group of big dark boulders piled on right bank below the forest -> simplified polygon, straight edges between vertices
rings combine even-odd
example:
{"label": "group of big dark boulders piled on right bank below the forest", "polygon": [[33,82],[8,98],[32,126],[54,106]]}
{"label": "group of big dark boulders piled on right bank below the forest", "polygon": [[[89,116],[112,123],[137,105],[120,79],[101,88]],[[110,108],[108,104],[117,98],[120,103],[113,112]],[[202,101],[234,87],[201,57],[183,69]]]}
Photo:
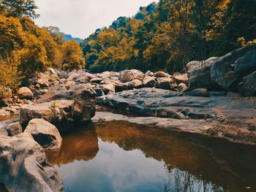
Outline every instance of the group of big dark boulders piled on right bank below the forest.
{"label": "group of big dark boulders piled on right bank below the forest", "polygon": [[242,47],[219,58],[187,64],[189,88],[240,91],[255,96],[256,45]]}

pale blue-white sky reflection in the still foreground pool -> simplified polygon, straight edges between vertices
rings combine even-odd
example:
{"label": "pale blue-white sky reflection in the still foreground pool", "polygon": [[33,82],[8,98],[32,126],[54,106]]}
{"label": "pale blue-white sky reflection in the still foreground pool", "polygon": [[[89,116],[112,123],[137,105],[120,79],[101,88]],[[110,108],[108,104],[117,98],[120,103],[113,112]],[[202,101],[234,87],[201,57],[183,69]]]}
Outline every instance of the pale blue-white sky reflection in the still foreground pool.
{"label": "pale blue-white sky reflection in the still foreground pool", "polygon": [[[99,139],[99,153],[91,161],[75,161],[56,167],[64,180],[65,191],[163,191],[166,181],[165,163],[146,158],[140,150],[125,151],[118,145]],[[173,169],[170,175],[174,188],[174,177],[187,172]],[[192,188],[201,191],[199,183]]]}

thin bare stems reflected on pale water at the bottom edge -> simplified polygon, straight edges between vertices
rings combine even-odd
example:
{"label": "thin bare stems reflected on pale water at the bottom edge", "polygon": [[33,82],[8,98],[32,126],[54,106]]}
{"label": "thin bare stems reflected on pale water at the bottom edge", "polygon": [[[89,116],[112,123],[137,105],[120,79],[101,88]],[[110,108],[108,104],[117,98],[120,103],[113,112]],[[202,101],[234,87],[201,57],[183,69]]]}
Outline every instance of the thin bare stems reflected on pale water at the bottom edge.
{"label": "thin bare stems reflected on pale water at the bottom edge", "polygon": [[223,192],[224,190],[205,180],[198,180],[189,172],[183,172],[179,169],[165,167],[165,177],[162,180],[163,192]]}

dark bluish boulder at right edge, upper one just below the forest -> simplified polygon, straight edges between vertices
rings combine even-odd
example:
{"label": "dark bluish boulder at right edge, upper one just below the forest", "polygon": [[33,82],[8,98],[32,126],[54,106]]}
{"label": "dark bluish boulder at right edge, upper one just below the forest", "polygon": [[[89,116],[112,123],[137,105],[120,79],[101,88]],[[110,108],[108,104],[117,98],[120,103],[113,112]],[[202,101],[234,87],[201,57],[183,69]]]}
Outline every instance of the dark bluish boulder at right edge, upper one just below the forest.
{"label": "dark bluish boulder at right edge, upper one just below the forest", "polygon": [[245,77],[256,71],[256,50],[249,51],[235,62],[235,74]]}

